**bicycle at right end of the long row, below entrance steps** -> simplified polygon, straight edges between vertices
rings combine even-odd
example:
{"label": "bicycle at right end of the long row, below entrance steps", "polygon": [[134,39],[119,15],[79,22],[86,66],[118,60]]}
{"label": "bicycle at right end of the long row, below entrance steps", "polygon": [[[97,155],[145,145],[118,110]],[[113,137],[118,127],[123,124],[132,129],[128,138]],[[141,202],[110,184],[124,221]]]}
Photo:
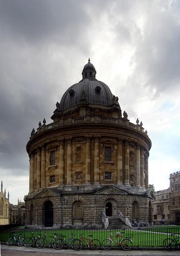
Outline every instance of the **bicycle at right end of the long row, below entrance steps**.
{"label": "bicycle at right end of the long row, below entrance steps", "polygon": [[[116,240],[113,238],[116,238]],[[124,238],[119,232],[117,232],[116,236],[114,236],[112,231],[110,231],[110,238],[102,241],[102,248],[105,250],[110,250],[114,245],[120,246],[124,251],[128,251],[131,250],[133,241],[130,238]]]}

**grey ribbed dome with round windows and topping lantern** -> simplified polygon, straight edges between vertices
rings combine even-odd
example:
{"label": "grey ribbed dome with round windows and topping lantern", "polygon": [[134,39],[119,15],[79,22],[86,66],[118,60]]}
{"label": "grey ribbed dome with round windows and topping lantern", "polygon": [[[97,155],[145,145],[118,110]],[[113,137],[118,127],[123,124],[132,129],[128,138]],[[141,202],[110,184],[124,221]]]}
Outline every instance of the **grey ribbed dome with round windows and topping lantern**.
{"label": "grey ribbed dome with round windows and topping lantern", "polygon": [[60,102],[61,111],[79,104],[82,99],[89,104],[104,106],[116,104],[116,107],[120,109],[118,98],[112,94],[107,84],[95,79],[96,70],[90,63],[90,59],[84,66],[82,75],[83,79],[79,83],[73,84],[64,93]]}

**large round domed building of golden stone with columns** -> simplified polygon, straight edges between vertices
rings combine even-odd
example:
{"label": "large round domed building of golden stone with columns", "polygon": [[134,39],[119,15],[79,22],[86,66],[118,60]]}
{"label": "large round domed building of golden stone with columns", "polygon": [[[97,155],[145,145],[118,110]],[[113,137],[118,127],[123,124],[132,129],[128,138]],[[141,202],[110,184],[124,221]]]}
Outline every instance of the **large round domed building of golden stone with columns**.
{"label": "large round domed building of golden stone with columns", "polygon": [[96,79],[90,59],[82,76],[56,103],[53,122],[44,119],[31,133],[25,225],[149,223],[147,132],[138,119],[134,124],[122,115],[118,97]]}

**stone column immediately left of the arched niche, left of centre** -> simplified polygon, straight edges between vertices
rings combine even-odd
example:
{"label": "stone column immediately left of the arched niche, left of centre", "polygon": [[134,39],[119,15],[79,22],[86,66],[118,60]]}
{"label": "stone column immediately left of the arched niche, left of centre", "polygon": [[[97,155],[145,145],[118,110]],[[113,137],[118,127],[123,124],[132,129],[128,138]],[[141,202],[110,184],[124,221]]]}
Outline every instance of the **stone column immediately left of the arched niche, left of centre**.
{"label": "stone column immediately left of the arched niche, left of centre", "polygon": [[72,184],[72,138],[67,138],[67,185]]}

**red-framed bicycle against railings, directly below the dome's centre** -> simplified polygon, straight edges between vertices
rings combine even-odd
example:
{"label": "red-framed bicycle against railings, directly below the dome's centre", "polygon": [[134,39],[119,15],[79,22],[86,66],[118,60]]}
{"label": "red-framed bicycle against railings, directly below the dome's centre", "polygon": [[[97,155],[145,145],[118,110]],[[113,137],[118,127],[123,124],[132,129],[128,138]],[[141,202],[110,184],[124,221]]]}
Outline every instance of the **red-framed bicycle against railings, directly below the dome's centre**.
{"label": "red-framed bicycle against railings, directly below the dome's centre", "polygon": [[[92,234],[89,235],[89,237],[92,237]],[[72,248],[74,250],[81,250],[84,246],[84,244],[86,244],[88,246],[88,248],[92,249],[92,250],[98,250],[101,246],[100,241],[97,239],[90,239],[90,238],[84,238],[83,234],[81,234],[81,238],[80,239],[74,239],[72,242]]]}

